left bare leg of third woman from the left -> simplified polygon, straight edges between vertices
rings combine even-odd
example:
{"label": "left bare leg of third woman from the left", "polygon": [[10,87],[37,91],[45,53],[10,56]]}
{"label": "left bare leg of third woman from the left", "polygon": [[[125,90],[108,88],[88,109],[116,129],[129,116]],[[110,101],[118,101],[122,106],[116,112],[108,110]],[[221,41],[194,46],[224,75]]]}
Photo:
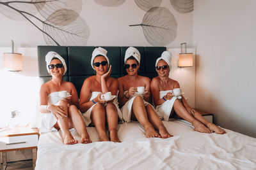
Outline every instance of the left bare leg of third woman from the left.
{"label": "left bare leg of third woman from the left", "polygon": [[134,116],[144,127],[147,138],[161,138],[161,136],[148,121],[147,111],[145,110],[144,101],[141,96],[135,97],[132,103],[132,117]]}

